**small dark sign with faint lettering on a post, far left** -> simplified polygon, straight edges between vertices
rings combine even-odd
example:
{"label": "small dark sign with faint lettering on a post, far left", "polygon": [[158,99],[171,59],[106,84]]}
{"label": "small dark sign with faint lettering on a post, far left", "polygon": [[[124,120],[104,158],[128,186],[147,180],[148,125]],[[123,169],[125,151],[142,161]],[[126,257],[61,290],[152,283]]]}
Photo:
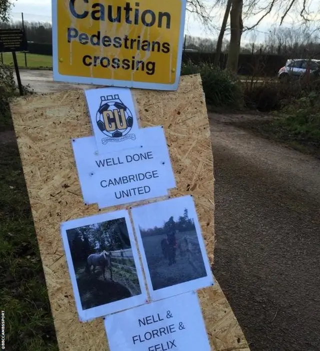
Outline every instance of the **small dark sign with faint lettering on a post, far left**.
{"label": "small dark sign with faint lettering on a post, far left", "polygon": [[22,29],[0,29],[0,52],[27,51]]}

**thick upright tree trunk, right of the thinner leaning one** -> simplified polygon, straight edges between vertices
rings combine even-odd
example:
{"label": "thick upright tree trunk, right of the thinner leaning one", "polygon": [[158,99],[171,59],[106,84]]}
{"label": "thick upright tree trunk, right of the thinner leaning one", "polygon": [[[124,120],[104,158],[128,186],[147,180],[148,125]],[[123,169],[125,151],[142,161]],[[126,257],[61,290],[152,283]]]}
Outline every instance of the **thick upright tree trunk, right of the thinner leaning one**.
{"label": "thick upright tree trunk, right of the thinner leaning one", "polygon": [[234,73],[238,70],[240,42],[243,29],[242,4],[242,0],[232,0],[230,11],[231,33],[226,68]]}

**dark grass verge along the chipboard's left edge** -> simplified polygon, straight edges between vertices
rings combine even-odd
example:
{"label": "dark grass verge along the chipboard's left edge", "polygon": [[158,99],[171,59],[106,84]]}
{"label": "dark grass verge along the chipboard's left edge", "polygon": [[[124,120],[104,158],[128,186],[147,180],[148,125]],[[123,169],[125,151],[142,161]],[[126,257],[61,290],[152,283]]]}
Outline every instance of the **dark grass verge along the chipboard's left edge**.
{"label": "dark grass verge along the chipboard's left edge", "polygon": [[0,305],[7,350],[56,351],[55,331],[16,143],[0,147]]}

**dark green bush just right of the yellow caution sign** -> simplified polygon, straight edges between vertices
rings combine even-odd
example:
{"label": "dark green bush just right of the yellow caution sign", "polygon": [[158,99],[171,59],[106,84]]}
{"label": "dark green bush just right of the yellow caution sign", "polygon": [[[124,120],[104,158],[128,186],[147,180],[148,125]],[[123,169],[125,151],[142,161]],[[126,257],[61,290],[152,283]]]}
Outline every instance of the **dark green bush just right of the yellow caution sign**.
{"label": "dark green bush just right of the yellow caution sign", "polygon": [[235,75],[210,63],[182,63],[181,75],[199,73],[206,103],[220,107],[239,107],[242,104],[240,84]]}

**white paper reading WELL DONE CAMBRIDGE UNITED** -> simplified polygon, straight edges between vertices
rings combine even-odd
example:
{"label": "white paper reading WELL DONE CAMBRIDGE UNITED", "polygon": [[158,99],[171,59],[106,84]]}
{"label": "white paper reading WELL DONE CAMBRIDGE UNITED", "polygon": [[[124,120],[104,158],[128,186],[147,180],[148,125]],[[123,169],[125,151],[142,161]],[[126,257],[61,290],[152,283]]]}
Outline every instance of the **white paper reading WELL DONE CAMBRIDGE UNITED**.
{"label": "white paper reading WELL DONE CAMBRIDGE UNITED", "polygon": [[84,203],[99,208],[167,195],[175,187],[163,128],[141,128],[136,148],[96,154],[94,137],[72,139]]}

